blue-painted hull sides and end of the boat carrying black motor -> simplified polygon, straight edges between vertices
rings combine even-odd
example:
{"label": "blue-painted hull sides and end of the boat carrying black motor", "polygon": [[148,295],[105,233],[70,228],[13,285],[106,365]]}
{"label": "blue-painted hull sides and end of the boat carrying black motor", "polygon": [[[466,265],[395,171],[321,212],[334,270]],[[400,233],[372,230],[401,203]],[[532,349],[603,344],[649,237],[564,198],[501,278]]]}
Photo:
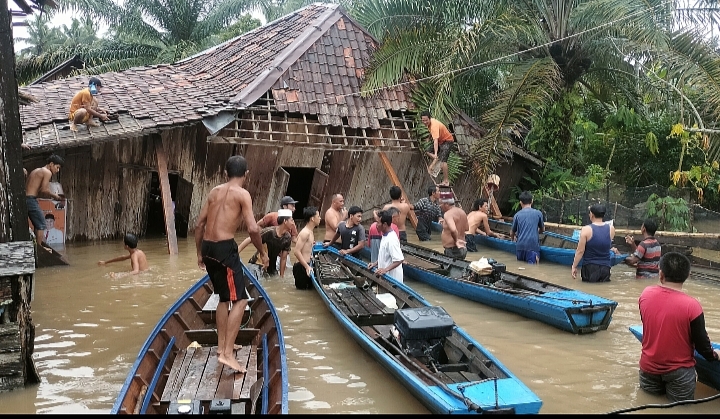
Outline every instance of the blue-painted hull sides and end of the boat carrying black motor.
{"label": "blue-painted hull sides and end of the boat carrying black motor", "polygon": [[[322,245],[315,245],[313,248],[314,257],[319,252],[331,252],[339,256],[337,250],[329,247],[324,248]],[[366,263],[355,259],[352,256],[345,256],[345,260],[358,266],[365,266]],[[392,287],[402,290],[411,295],[412,299],[421,306],[429,307],[430,304],[425,301],[422,296],[414,292],[404,284],[393,280],[384,275],[387,281],[392,283]],[[362,327],[358,326],[345,312],[343,312],[337,304],[328,296],[321,282],[317,279],[316,274],[313,275],[313,285],[318,291],[321,299],[328,307],[328,310],[337,319],[340,325],[353,337],[353,339],[378,363],[380,363],[387,371],[389,371],[400,383],[402,383],[413,396],[415,396],[428,410],[437,414],[456,414],[456,413],[475,413],[456,397],[453,397],[448,391],[438,385],[429,385],[421,380],[415,373],[408,369],[403,363],[398,361],[385,347],[380,345],[378,341],[371,338]],[[496,401],[501,409],[514,408],[515,413],[535,414],[538,413],[542,406],[542,401],[519,379],[517,379],[506,367],[504,367],[497,358],[489,351],[477,343],[470,335],[458,326],[453,326],[453,333],[458,339],[463,340],[467,347],[475,347],[482,351],[487,359],[491,360],[494,365],[502,370],[508,377],[497,380],[479,382],[464,388],[464,395],[473,402],[480,405],[482,409],[493,409],[496,407]],[[496,387],[497,385],[497,400]],[[448,384],[451,390],[458,392],[458,384]]]}

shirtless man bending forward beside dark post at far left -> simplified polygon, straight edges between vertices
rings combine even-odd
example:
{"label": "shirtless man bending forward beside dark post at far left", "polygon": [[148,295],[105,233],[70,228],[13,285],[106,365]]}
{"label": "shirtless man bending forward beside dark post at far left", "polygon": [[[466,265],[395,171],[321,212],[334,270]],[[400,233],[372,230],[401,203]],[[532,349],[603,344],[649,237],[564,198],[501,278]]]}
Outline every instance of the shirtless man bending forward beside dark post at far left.
{"label": "shirtless man bending forward beside dark post at far left", "polygon": [[65,206],[65,197],[50,191],[50,179],[60,171],[65,160],[57,154],[48,157],[47,164],[30,172],[25,179],[25,202],[28,207],[28,217],[35,227],[35,240],[38,245],[45,245],[45,214],[40,209],[37,199],[41,196],[60,201],[60,207]]}

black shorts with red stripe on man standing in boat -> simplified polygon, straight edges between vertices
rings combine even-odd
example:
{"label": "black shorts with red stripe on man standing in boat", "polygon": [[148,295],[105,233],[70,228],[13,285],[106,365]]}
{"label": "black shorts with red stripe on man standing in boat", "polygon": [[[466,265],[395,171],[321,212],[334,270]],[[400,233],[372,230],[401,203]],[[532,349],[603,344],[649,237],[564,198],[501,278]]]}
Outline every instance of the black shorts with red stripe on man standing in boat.
{"label": "black shorts with red stripe on man standing in boat", "polygon": [[235,239],[219,242],[203,240],[200,254],[221,303],[248,299],[245,272]]}

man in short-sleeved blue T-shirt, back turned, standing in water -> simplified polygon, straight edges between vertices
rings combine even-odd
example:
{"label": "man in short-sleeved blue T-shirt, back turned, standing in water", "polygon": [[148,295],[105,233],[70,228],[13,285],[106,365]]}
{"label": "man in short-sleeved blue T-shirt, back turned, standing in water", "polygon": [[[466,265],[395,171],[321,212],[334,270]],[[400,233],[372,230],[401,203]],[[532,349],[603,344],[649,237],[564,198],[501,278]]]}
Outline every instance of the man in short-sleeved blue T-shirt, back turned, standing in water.
{"label": "man in short-sleeved blue T-shirt, back turned, standing in water", "polygon": [[513,217],[510,239],[515,241],[515,255],[527,263],[540,263],[540,236],[545,231],[542,213],[532,207],[532,194],[520,193],[522,209]]}

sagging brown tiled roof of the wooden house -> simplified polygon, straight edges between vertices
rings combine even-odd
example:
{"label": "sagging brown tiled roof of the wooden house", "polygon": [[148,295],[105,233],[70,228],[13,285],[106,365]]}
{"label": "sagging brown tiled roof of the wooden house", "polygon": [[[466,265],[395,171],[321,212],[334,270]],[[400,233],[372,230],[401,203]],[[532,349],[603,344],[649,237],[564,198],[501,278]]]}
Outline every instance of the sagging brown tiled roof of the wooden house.
{"label": "sagging brown tiled roof of the wooden house", "polygon": [[100,106],[123,115],[115,125],[63,129],[70,99],[88,76],[23,87],[39,99],[20,109],[25,142],[42,149],[135,137],[235,112],[271,88],[281,111],[314,113],[323,124],[347,117],[353,127],[377,127],[387,110],[411,105],[399,88],[375,99],[343,96],[359,92],[374,44],[337,5],[315,3],[175,64],[98,75]]}

